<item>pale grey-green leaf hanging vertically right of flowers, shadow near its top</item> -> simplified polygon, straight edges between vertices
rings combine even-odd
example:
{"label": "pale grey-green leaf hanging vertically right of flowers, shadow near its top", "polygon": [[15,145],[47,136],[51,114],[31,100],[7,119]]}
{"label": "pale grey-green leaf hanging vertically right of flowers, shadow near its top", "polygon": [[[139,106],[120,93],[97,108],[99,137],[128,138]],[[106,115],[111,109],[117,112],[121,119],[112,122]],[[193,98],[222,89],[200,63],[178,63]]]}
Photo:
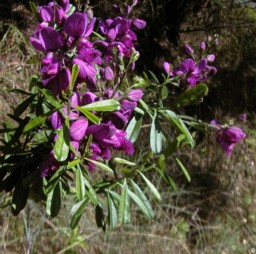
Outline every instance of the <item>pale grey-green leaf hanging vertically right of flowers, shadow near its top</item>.
{"label": "pale grey-green leaf hanging vertically right of flowers, shadow near its top", "polygon": [[150,129],[150,147],[153,153],[160,153],[162,150],[162,130],[155,111]]}

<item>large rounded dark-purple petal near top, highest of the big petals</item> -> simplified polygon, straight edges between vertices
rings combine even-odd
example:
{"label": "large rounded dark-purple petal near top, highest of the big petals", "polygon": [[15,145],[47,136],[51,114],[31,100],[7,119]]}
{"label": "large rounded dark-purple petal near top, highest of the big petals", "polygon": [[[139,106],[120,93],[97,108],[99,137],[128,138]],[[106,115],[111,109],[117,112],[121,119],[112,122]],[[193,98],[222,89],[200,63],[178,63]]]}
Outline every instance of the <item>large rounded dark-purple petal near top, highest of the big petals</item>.
{"label": "large rounded dark-purple petal near top, highest of the big petals", "polygon": [[76,12],[66,19],[63,28],[69,36],[79,37],[84,34],[86,27],[86,17],[82,13]]}

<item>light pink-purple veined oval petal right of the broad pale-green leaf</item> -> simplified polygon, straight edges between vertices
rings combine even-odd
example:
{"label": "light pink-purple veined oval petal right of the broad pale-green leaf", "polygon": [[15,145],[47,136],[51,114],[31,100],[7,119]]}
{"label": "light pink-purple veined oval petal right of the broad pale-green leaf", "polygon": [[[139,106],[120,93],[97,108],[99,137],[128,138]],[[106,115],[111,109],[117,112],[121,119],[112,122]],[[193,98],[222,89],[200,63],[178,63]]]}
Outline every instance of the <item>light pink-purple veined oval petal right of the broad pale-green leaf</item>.
{"label": "light pink-purple veined oval petal right of the broad pale-green leaf", "polygon": [[78,118],[70,126],[70,138],[74,141],[83,139],[88,127],[88,120],[84,117]]}

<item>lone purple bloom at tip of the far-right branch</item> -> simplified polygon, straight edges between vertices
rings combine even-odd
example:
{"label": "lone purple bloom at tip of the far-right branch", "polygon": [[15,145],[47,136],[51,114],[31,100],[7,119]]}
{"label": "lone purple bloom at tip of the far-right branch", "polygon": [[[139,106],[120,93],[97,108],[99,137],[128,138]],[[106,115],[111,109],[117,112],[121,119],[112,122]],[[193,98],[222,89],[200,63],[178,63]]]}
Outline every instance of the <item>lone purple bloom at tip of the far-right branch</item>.
{"label": "lone purple bloom at tip of the far-right branch", "polygon": [[239,127],[222,127],[215,120],[211,124],[217,128],[217,142],[225,150],[227,156],[230,156],[234,145],[246,138],[246,134]]}

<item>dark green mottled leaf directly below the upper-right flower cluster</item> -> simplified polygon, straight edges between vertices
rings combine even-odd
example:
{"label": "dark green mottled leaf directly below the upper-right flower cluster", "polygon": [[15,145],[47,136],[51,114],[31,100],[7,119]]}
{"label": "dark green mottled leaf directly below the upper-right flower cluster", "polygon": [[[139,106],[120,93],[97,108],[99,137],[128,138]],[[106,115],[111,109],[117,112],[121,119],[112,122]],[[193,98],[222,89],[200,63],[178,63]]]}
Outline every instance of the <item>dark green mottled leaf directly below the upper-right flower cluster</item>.
{"label": "dark green mottled leaf directly below the upper-right flower cluster", "polygon": [[173,102],[172,107],[182,107],[202,102],[203,97],[208,94],[208,87],[204,83],[187,89]]}

